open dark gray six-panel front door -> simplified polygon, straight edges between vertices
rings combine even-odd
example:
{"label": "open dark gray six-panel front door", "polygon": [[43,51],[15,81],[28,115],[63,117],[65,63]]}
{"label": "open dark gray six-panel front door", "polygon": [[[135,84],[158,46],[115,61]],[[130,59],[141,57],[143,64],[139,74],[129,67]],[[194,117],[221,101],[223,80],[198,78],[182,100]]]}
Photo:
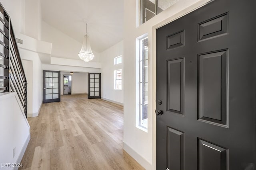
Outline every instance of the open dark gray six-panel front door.
{"label": "open dark gray six-panel front door", "polygon": [[255,8],[215,0],[156,30],[157,170],[256,169]]}

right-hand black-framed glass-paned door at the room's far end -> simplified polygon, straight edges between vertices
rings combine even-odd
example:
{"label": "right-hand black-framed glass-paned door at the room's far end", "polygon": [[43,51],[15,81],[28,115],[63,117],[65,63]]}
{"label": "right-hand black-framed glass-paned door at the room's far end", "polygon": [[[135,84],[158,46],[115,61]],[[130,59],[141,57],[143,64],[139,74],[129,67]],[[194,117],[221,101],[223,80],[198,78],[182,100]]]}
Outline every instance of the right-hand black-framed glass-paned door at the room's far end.
{"label": "right-hand black-framed glass-paned door at the room's far end", "polygon": [[89,99],[100,98],[100,73],[89,73]]}

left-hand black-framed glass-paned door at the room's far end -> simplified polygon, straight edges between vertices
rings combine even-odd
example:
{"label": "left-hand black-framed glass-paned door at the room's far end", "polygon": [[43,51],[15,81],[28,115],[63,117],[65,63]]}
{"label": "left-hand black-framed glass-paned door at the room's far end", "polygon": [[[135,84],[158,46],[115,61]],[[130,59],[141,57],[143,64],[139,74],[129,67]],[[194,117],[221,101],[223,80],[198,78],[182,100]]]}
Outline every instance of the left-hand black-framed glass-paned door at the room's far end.
{"label": "left-hand black-framed glass-paned door at the room's far end", "polygon": [[43,103],[60,102],[60,72],[44,70]]}

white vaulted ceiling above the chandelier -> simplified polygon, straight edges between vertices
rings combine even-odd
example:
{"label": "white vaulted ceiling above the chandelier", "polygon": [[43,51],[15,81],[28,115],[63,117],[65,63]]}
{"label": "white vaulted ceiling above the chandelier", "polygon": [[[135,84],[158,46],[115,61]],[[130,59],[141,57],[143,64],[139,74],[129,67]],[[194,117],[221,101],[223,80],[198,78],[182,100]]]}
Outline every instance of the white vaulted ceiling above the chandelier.
{"label": "white vaulted ceiling above the chandelier", "polygon": [[123,39],[123,0],[42,0],[42,20],[100,53]]}

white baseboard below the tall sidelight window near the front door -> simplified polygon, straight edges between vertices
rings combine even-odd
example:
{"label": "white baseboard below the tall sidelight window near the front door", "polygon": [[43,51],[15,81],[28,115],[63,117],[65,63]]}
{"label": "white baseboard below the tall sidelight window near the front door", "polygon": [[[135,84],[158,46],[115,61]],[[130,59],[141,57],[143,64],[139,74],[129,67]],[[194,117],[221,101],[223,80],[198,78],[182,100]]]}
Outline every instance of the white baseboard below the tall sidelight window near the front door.
{"label": "white baseboard below the tall sidelight window near the front door", "polygon": [[152,164],[150,164],[144,157],[138,154],[135,150],[133,150],[130,146],[123,142],[123,149],[132,156],[143,168],[146,170],[154,170]]}

